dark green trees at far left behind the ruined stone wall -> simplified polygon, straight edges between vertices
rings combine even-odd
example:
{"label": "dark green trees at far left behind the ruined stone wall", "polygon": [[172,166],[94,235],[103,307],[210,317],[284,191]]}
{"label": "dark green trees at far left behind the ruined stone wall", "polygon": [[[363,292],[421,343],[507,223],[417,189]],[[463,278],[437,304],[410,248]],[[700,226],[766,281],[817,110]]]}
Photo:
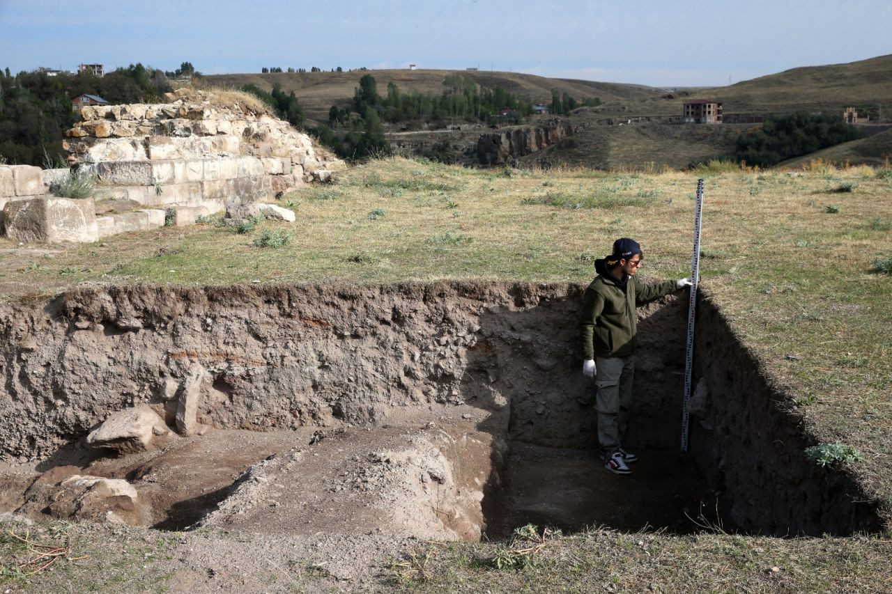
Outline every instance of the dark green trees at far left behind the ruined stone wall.
{"label": "dark green trees at far left behind the ruined stone wall", "polygon": [[53,160],[62,157],[62,135],[78,120],[71,110],[75,97],[90,94],[109,103],[159,103],[170,90],[163,71],[141,63],[101,78],[92,72],[49,76],[22,71],[13,76],[7,68],[0,72],[0,160],[42,165],[45,155]]}

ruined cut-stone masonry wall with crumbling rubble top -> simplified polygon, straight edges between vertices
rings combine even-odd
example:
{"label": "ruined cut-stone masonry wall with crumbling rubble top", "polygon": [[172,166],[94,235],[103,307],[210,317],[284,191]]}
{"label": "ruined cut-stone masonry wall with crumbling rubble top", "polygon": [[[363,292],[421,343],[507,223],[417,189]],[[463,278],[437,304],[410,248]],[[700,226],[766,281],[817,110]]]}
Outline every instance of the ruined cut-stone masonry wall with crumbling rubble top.
{"label": "ruined cut-stone masonry wall with crumbling rubble top", "polygon": [[[305,183],[330,181],[343,169],[343,161],[314,146],[310,136],[244,102],[224,104],[186,89],[166,98],[169,103],[157,105],[84,106],[84,120],[63,142],[71,166],[95,176],[96,201],[123,199],[145,208],[99,216],[97,205],[95,216],[84,214],[78,229],[65,214],[73,211],[69,202],[78,201],[47,195],[66,169],[0,166],[0,209],[10,221],[17,213],[18,221],[5,226],[6,235],[23,242],[92,242],[161,227],[167,210],[177,211],[176,225],[220,210],[244,219],[259,213],[260,202]],[[43,201],[6,212],[7,202],[37,198]],[[53,219],[65,219],[67,230],[51,232]]]}

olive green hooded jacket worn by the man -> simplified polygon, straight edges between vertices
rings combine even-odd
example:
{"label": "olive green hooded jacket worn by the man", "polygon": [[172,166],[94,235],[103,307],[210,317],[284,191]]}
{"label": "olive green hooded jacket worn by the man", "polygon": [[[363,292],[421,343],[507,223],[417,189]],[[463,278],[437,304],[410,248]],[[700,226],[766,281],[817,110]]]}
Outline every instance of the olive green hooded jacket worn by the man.
{"label": "olive green hooded jacket worn by the man", "polygon": [[579,321],[585,359],[631,355],[635,351],[638,322],[635,308],[677,290],[675,281],[646,285],[635,276],[618,281],[602,262],[595,263],[600,274],[585,290]]}

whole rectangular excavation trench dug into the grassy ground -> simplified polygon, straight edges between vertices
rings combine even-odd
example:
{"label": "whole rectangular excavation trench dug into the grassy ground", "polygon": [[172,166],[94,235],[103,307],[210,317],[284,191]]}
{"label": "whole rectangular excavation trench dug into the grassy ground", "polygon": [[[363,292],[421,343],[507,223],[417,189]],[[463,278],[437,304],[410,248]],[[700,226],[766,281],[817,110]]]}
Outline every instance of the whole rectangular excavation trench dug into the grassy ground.
{"label": "whole rectangular excavation trench dug into the grassy ground", "polygon": [[[527,523],[880,531],[858,484],[805,459],[809,437],[708,300],[690,453],[686,303],[670,297],[640,309],[626,444],[640,461],[607,473],[579,371],[583,288],[84,287],[4,305],[0,512],[471,540]],[[85,446],[140,406],[186,436]]]}

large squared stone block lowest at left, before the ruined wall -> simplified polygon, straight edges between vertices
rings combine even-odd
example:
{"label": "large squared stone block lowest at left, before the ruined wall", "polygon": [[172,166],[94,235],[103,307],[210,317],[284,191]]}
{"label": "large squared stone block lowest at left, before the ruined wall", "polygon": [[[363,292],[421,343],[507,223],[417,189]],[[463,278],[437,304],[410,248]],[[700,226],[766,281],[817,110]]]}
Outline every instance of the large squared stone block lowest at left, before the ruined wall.
{"label": "large squared stone block lowest at left, before the ruined wall", "polygon": [[93,200],[44,196],[4,205],[6,236],[25,243],[95,242]]}

